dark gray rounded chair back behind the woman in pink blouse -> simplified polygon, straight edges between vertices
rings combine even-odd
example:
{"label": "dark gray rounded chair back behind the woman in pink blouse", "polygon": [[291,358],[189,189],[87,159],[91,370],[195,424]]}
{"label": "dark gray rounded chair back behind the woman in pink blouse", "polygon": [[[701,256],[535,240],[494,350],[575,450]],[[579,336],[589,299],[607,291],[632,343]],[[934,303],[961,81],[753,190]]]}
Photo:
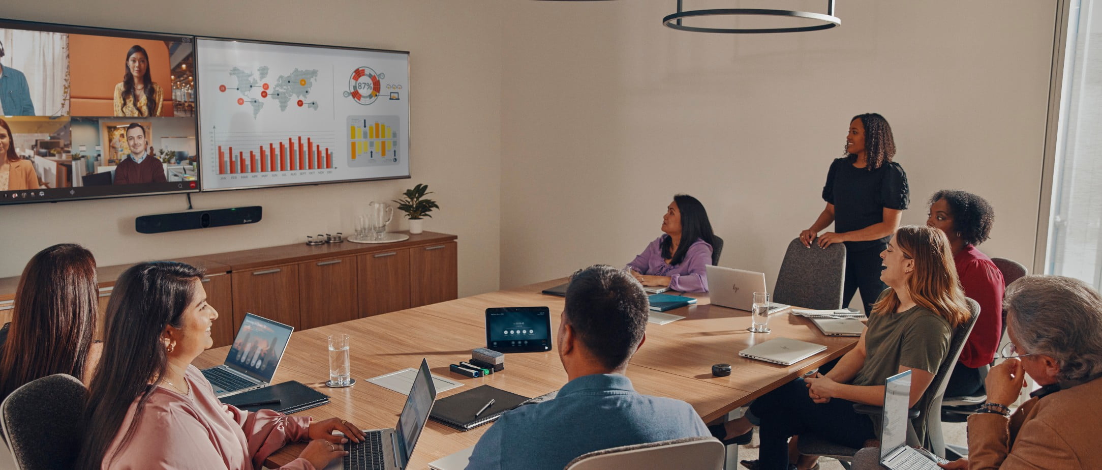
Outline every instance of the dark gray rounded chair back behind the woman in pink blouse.
{"label": "dark gray rounded chair back behind the woman in pink blouse", "polygon": [[83,438],[88,391],[72,375],[54,374],[15,388],[0,404],[0,428],[22,470],[73,468]]}

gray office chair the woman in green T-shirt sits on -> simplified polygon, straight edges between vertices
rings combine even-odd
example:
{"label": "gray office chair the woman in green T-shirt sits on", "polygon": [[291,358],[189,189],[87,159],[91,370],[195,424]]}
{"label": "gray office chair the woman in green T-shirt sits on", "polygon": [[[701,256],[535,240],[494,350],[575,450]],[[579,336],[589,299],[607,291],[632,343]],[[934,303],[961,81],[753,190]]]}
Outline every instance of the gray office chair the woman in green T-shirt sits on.
{"label": "gray office chair the woman in green T-shirt sits on", "polygon": [[[970,298],[965,298],[965,301],[972,316],[953,331],[949,342],[949,354],[946,354],[946,359],[938,366],[938,373],[933,375],[933,382],[930,382],[930,386],[926,388],[927,394],[933,394],[932,398],[927,402],[925,409],[911,408],[908,413],[910,423],[907,425],[907,445],[925,447],[941,457],[946,456],[946,441],[941,431],[941,402],[946,394],[946,387],[949,385],[949,375],[953,373],[961,350],[964,349],[964,341],[968,340],[972,328],[975,327],[976,319],[980,318],[980,305]],[[879,416],[883,413],[883,407],[854,404],[853,409],[869,415],[877,432],[879,432]],[[838,459],[846,469],[851,468],[847,462],[853,460],[858,450],[835,444],[829,438],[815,434],[800,435],[797,447],[804,456]]]}

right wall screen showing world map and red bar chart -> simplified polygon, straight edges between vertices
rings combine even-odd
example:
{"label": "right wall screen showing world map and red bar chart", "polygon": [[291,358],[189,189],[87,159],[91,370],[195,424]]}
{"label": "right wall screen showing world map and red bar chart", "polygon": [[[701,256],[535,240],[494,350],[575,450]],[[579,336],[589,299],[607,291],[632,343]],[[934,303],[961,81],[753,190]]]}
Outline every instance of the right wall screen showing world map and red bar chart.
{"label": "right wall screen showing world map and red bar chart", "polygon": [[409,53],[196,49],[203,191],[409,178]]}

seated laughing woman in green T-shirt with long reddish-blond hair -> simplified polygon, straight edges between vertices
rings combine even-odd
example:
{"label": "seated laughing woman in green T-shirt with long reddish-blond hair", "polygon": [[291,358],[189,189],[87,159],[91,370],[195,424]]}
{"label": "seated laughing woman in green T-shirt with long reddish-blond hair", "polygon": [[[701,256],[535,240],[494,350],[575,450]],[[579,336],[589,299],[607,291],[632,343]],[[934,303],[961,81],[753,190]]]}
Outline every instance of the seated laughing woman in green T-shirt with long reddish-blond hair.
{"label": "seated laughing woman in green T-shirt with long reddish-blond hair", "polygon": [[761,447],[758,461],[744,462],[748,467],[788,470],[788,438],[804,432],[865,447],[876,434],[853,404],[884,406],[884,380],[890,375],[911,371],[910,406],[926,399],[953,329],[970,316],[949,241],[937,228],[904,226],[880,259],[888,289],[873,306],[857,345],[825,375],[796,380],[750,405],[761,420]]}

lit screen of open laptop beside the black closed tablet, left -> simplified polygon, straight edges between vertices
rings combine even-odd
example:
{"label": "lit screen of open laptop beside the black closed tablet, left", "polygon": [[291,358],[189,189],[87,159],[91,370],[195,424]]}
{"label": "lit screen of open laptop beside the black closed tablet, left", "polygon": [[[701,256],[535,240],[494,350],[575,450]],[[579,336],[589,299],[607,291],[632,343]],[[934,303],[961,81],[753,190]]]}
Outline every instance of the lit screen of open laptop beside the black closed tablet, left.
{"label": "lit screen of open laptop beside the black closed tablet, left", "polygon": [[226,365],[252,378],[271,382],[291,331],[294,328],[246,313],[226,356]]}

